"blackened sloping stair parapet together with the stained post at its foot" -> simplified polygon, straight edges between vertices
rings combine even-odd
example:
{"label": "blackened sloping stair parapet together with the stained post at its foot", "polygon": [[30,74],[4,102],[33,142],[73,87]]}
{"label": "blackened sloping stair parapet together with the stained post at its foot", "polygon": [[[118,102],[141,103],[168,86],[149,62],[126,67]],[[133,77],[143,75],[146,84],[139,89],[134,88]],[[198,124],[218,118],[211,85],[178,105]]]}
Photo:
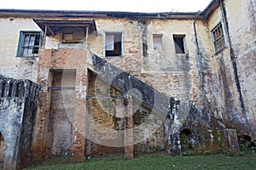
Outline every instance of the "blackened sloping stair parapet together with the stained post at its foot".
{"label": "blackened sloping stair parapet together with the stained post at its foot", "polygon": [[102,81],[140,100],[143,106],[146,106],[155,116],[160,117],[165,127],[166,141],[170,142],[172,151],[177,150],[179,153],[181,150],[180,128],[188,117],[192,120],[191,116],[198,115],[193,101],[177,101],[170,98],[96,54],[89,54],[87,68],[94,71],[96,77]]}

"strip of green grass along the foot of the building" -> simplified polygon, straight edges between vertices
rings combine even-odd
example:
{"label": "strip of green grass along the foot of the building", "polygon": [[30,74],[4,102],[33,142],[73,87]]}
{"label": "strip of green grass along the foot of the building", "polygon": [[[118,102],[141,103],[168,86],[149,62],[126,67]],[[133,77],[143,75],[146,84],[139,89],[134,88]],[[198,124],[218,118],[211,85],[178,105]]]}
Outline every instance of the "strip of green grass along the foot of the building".
{"label": "strip of green grass along the foot of the building", "polygon": [[60,169],[256,169],[256,154],[243,156],[168,156],[143,155],[133,160],[121,156],[93,157],[90,161],[75,163],[65,158],[54,158],[27,167],[26,170]]}

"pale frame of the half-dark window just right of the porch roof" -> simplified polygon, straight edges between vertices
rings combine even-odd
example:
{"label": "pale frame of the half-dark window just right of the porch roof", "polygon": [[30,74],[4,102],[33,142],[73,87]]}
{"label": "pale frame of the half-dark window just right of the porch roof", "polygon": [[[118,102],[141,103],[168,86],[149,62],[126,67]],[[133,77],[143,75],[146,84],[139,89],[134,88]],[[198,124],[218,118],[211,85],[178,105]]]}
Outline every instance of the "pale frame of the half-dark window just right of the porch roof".
{"label": "pale frame of the half-dark window just right of the porch roof", "polygon": [[[115,35],[120,34],[121,37],[121,48],[120,48],[120,55],[108,55],[106,54],[107,51],[107,35],[113,35],[113,39]],[[103,38],[103,57],[105,58],[116,58],[116,57],[123,57],[125,53],[125,41],[124,41],[125,34],[123,31],[104,31],[104,38]],[[114,40],[113,40],[114,41]],[[113,46],[114,48],[114,46]]]}

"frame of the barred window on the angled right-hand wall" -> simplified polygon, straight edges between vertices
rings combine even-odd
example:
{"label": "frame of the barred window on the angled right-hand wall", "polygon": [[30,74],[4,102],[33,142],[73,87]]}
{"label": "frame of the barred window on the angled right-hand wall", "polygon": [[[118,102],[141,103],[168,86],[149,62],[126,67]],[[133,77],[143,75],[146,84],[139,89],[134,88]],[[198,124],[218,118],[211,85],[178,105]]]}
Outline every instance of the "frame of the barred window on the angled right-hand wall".
{"label": "frame of the barred window on the angled right-hand wall", "polygon": [[[216,40],[216,37],[214,36],[213,31],[216,31],[219,26],[221,26],[222,36],[218,37],[218,39]],[[224,27],[223,27],[223,23],[221,21],[218,22],[218,24],[212,28],[212,30],[211,30],[211,38],[212,38],[213,53],[214,53],[214,55],[218,55],[219,53],[221,53],[224,50],[224,48],[226,48],[226,40],[225,40]],[[222,47],[219,48],[219,49],[217,48],[217,43],[218,42],[223,42]]]}

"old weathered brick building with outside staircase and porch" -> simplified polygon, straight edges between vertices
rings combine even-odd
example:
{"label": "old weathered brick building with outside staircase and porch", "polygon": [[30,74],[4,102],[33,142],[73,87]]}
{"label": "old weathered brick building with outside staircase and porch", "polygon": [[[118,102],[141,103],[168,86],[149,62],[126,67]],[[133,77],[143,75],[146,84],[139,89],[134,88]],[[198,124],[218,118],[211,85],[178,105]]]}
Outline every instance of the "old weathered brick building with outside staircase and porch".
{"label": "old weathered brick building with outside staircase and porch", "polygon": [[197,13],[1,9],[0,74],[43,87],[33,159],[238,150],[237,135],[253,144],[255,8],[212,0]]}

